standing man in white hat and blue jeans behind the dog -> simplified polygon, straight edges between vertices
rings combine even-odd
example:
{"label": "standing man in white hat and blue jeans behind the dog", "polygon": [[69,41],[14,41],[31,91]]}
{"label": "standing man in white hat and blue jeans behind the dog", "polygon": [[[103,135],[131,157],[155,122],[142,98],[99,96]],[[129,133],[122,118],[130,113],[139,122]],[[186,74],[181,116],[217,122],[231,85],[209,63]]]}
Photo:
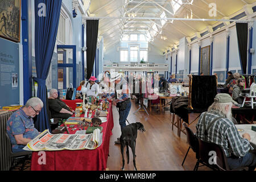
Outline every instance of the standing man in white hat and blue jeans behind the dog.
{"label": "standing man in white hat and blue jeans behind the dog", "polygon": [[[126,126],[126,119],[131,110],[129,85],[118,72],[110,74],[110,81],[115,83],[115,93],[110,94],[108,98],[114,98],[113,105],[119,107],[119,125],[122,130]],[[115,144],[120,144],[119,139],[115,141]]]}

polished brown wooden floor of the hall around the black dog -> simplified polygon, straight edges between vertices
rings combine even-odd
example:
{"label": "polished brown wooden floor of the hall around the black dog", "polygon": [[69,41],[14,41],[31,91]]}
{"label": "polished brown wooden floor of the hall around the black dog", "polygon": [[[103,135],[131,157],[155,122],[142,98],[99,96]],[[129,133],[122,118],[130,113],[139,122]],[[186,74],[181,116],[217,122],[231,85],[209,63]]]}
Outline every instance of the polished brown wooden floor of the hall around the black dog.
{"label": "polished brown wooden floor of the hall around the black dog", "polygon": [[[188,171],[193,170],[196,164],[195,153],[190,150],[183,166],[184,156],[188,150],[187,136],[181,133],[177,137],[177,128],[171,127],[171,113],[170,110],[162,111],[160,114],[156,109],[152,109],[148,116],[145,111],[139,111],[135,114],[138,106],[132,100],[132,107],[127,120],[130,123],[141,122],[144,125],[146,132],[138,131],[136,143],[136,164],[137,169],[142,171]],[[191,114],[191,121],[197,117],[197,114]],[[121,135],[119,126],[119,115],[117,109],[113,106],[114,128],[112,130],[112,137],[109,144],[109,158],[107,167],[109,171],[119,171],[122,167],[122,155],[120,146],[114,144],[117,137]],[[127,124],[127,122],[126,122]],[[196,122],[191,126],[192,131],[195,130]],[[127,164],[126,149],[125,155],[125,170],[134,170],[133,155],[130,150],[130,162]],[[200,170],[209,170],[207,167],[199,167]]]}

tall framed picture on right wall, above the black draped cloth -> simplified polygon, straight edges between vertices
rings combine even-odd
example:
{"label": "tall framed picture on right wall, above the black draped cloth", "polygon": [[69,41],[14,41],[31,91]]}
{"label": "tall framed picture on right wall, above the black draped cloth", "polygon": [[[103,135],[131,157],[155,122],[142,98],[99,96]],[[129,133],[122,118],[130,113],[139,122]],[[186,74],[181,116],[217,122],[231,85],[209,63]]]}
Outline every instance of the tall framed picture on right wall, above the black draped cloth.
{"label": "tall framed picture on right wall, above the black draped cloth", "polygon": [[210,75],[210,46],[201,48],[201,72]]}

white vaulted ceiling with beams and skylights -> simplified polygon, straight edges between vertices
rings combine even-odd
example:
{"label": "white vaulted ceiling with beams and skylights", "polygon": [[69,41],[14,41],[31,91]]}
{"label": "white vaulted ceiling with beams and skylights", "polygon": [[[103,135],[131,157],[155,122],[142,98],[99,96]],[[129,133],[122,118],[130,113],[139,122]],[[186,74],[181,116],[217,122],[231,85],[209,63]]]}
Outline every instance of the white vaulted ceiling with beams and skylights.
{"label": "white vaulted ceiling with beams and skylights", "polygon": [[[172,3],[182,2],[179,10],[174,13]],[[153,38],[153,44],[160,51],[166,50],[183,37],[192,37],[196,32],[203,31],[208,26],[216,24],[216,21],[188,21],[188,20],[167,20],[162,24],[160,15],[163,11],[167,18],[188,18],[193,19],[224,19],[225,16],[233,15],[243,9],[246,4],[253,4],[256,0],[91,0],[89,13],[100,19],[99,36],[104,37],[104,47],[112,47],[117,44],[123,34],[142,33],[152,31],[156,24],[158,31]],[[217,16],[209,16],[209,4],[216,3]],[[129,14],[136,13],[135,18],[148,19],[127,19]],[[119,17],[119,18],[118,18]],[[161,33],[161,34],[160,34]],[[166,36],[167,40],[161,39]]]}

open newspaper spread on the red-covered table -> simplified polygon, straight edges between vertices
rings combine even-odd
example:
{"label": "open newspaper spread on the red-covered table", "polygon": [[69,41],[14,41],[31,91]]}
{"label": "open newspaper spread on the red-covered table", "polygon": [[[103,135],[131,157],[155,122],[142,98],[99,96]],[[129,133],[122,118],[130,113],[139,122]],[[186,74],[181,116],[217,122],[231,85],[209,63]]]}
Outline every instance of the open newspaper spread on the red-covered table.
{"label": "open newspaper spread on the red-covered table", "polygon": [[44,130],[23,149],[28,151],[94,150],[101,146],[101,143],[100,129],[90,134],[51,134],[49,130]]}

